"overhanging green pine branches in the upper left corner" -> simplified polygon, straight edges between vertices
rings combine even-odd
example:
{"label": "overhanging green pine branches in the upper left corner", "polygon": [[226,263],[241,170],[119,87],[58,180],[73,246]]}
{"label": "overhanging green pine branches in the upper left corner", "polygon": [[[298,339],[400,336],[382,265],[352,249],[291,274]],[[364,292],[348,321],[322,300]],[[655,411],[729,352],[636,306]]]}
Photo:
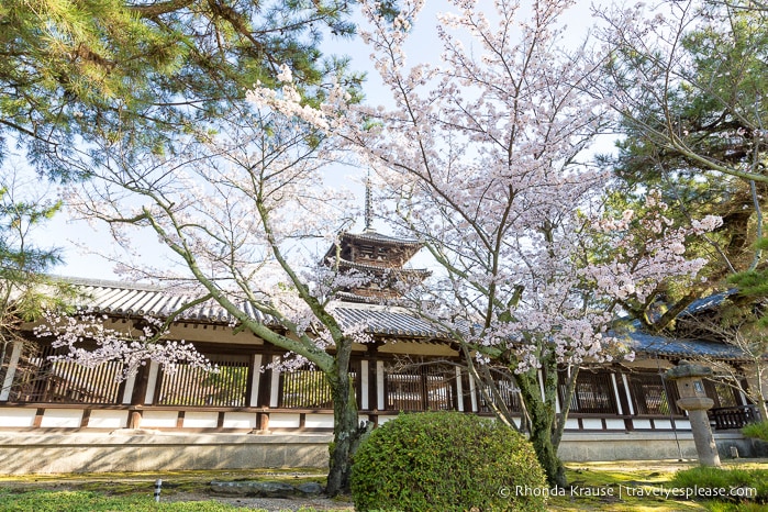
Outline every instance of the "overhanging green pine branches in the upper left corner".
{"label": "overhanging green pine branches in the upper left corner", "polygon": [[355,89],[361,77],[319,49],[324,32],[352,34],[349,9],[335,0],[3,1],[0,159],[9,136],[63,179],[87,176],[101,158],[80,151],[94,137],[171,153],[178,134],[243,105],[245,90],[274,84],[281,65],[308,96],[330,75]]}

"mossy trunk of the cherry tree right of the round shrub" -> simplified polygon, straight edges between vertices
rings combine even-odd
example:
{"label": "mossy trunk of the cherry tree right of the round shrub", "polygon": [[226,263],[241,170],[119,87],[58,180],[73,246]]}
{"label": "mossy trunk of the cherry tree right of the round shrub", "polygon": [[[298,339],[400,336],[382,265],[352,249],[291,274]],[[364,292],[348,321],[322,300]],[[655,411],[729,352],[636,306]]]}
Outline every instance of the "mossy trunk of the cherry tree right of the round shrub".
{"label": "mossy trunk of the cherry tree right of the round shrub", "polygon": [[545,389],[545,396],[548,400],[544,400],[536,370],[516,375],[515,380],[531,422],[530,441],[536,452],[536,458],[547,476],[547,483],[553,487],[566,487],[565,467],[557,456],[557,446],[553,443],[556,414],[554,397],[557,389]]}

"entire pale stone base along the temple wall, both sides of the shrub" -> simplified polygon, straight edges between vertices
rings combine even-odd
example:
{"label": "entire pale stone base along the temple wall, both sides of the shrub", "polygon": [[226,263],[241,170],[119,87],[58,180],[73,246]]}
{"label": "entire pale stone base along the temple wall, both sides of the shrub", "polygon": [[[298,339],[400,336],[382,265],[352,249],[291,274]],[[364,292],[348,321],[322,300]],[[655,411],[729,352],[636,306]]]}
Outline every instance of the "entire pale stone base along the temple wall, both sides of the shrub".
{"label": "entire pale stone base along the temple wall, both sides of the shrub", "polygon": [[[715,434],[730,459],[766,456],[768,444],[739,433]],[[165,471],[183,469],[327,468],[331,434],[177,434],[122,428],[113,434],[0,433],[0,474]],[[679,445],[679,449],[678,449]],[[566,433],[564,461],[695,460],[690,432]]]}

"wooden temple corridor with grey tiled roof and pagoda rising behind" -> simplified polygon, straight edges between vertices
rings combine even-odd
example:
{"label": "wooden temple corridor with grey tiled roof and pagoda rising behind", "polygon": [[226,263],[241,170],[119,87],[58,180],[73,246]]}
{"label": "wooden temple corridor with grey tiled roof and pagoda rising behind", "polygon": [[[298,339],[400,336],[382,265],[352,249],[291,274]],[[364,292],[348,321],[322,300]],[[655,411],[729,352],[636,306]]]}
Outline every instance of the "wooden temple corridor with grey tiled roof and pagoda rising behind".
{"label": "wooden temple corridor with grey tiled roof and pagoda rising behind", "polygon": [[[352,360],[360,420],[380,424],[402,411],[427,410],[490,414],[457,348],[398,305],[398,282],[428,276],[407,268],[419,243],[366,224],[363,233],[342,233],[324,256],[341,272],[374,276],[343,290],[331,309],[343,325],[364,323],[374,338],[356,345]],[[140,325],[144,315],[166,318],[192,299],[157,287],[69,281],[84,293],[79,305],[104,315],[113,329]],[[243,307],[269,325],[270,319]],[[219,366],[218,374],[185,364],[167,372],[149,363],[125,380],[120,363],[88,368],[52,359],[56,350],[49,341],[30,331],[26,342],[7,347],[2,360],[0,457],[5,463],[0,472],[326,464],[333,411],[322,374],[311,367],[270,369],[285,349],[234,331],[230,320],[216,307],[199,305],[178,316],[168,336],[193,344]],[[690,423],[664,371],[683,358],[743,358],[735,347],[713,341],[636,333],[630,343],[635,361],[579,374],[560,446],[565,460],[692,457]],[[748,443],[735,428],[755,418],[754,405],[722,381],[705,386],[715,401],[719,446],[748,455]],[[514,382],[500,375],[498,388],[500,399],[522,416]],[[77,455],[75,446],[81,448]]]}

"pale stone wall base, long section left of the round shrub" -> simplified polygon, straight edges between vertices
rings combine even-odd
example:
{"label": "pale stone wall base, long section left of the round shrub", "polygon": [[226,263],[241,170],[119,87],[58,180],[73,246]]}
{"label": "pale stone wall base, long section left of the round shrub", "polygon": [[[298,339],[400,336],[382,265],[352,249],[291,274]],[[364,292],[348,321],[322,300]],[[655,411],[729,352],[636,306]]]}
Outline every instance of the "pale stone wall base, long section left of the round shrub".
{"label": "pale stone wall base, long section left of the round shrub", "polygon": [[331,434],[0,433],[0,474],[327,467]]}

